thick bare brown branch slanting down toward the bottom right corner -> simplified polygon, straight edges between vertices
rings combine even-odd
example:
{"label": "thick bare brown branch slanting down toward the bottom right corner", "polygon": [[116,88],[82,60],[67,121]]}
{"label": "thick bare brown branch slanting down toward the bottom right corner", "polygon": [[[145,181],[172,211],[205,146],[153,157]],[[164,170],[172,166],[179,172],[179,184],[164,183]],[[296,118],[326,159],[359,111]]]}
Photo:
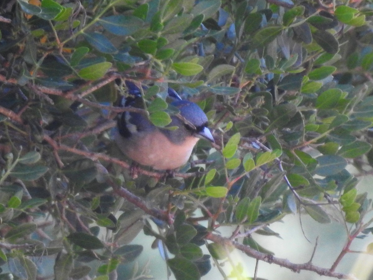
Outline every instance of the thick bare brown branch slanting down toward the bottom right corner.
{"label": "thick bare brown branch slanting down toward the bottom right corner", "polygon": [[343,273],[337,273],[334,272],[328,268],[321,268],[317,267],[316,265],[310,264],[309,262],[306,262],[304,264],[294,264],[287,259],[282,259],[282,258],[276,258],[273,255],[265,254],[258,252],[254,250],[253,248],[250,248],[249,246],[243,245],[241,243],[238,243],[236,241],[229,240],[228,238],[222,237],[217,234],[209,233],[206,236],[207,240],[211,240],[213,242],[219,243],[219,244],[225,244],[225,245],[230,245],[235,247],[236,249],[244,252],[246,255],[259,259],[261,261],[267,262],[269,264],[277,264],[280,265],[281,267],[286,267],[289,268],[290,270],[294,272],[300,272],[301,270],[309,270],[313,271],[321,276],[329,276],[333,278],[338,278],[338,279],[351,279],[351,280],[357,280],[356,277],[353,275],[347,275]]}

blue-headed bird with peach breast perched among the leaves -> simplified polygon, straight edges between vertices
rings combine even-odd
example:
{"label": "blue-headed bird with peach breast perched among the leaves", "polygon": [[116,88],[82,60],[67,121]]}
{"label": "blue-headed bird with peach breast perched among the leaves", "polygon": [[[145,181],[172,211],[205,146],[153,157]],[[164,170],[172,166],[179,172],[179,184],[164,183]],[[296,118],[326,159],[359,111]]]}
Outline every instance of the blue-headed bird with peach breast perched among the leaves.
{"label": "blue-headed bird with peach breast perched among the leaves", "polygon": [[[128,80],[125,84],[130,96],[122,106],[142,108],[140,88]],[[114,139],[119,149],[137,164],[172,171],[188,161],[198,140],[215,141],[207,127],[207,116],[197,104],[182,100],[172,88],[168,88],[168,95],[174,99],[170,105],[180,112],[171,116],[169,124],[177,129],[156,127],[141,113],[123,112],[117,118]]]}

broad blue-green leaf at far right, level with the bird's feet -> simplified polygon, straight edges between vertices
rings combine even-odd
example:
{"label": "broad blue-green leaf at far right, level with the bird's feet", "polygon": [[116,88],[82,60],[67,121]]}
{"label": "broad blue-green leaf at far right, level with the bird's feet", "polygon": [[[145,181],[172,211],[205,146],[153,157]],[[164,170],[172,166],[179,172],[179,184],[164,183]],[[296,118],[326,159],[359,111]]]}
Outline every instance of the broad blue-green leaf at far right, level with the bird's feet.
{"label": "broad blue-green leaf at far right, level with the bird's feet", "polygon": [[315,173],[320,176],[330,176],[341,172],[347,166],[347,160],[342,156],[323,155],[316,158],[319,165]]}

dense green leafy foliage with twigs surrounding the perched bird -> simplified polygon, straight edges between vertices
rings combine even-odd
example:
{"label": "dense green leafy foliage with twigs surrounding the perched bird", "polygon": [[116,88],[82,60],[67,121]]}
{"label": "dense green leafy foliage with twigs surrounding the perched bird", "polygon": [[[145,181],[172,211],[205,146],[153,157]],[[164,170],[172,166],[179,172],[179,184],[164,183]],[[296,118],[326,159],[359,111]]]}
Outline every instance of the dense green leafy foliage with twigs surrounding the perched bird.
{"label": "dense green leafy foliage with twigs surrounding the perched bird", "polygon": [[[0,15],[0,279],[123,279],[141,231],[178,280],[212,263],[248,279],[244,264],[219,267],[233,248],[352,277],[337,266],[373,228],[372,200],[346,170],[373,164],[369,1],[11,0]],[[168,87],[198,103],[216,144],[201,140],[175,177],[130,174],[110,139],[125,80],[146,85],[143,113],[159,127],[178,113]],[[291,213],[329,223],[330,209],[348,235],[330,268],[276,258],[253,237],[276,236]],[[47,261],[54,271],[39,269]]]}

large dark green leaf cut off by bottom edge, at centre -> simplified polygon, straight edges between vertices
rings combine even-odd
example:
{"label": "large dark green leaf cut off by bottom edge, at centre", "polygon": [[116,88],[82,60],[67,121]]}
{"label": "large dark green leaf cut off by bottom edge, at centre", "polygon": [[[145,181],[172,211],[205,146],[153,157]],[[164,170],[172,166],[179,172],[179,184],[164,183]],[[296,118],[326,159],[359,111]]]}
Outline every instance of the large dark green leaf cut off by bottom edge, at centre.
{"label": "large dark green leaf cut off by bottom edge, at centre", "polygon": [[167,265],[170,267],[176,280],[201,279],[197,265],[186,258],[176,256],[173,259],[167,259]]}

